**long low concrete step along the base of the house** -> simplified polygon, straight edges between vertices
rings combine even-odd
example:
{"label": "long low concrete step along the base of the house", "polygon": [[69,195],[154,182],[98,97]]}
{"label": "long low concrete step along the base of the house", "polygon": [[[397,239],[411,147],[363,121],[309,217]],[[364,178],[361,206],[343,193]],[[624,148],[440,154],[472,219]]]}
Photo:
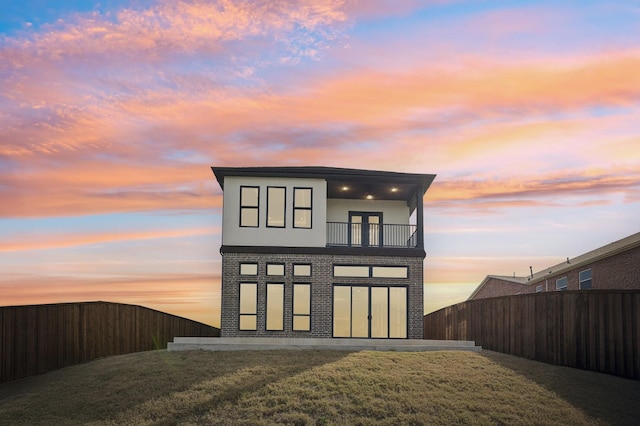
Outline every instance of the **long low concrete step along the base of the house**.
{"label": "long low concrete step along the base of the house", "polygon": [[169,351],[256,351],[276,349],[344,350],[344,351],[472,351],[482,347],[473,341],[419,339],[318,339],[272,337],[176,337],[167,345]]}

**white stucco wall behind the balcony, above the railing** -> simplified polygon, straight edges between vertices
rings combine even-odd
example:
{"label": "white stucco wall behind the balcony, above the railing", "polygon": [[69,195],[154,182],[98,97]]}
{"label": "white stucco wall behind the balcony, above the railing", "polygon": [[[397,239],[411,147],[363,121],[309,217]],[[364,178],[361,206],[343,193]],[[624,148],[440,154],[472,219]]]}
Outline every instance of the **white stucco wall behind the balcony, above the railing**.
{"label": "white stucco wall behind the balcony, above the railing", "polygon": [[349,212],[382,212],[382,222],[385,224],[409,224],[409,206],[404,201],[327,200],[327,222],[349,222]]}

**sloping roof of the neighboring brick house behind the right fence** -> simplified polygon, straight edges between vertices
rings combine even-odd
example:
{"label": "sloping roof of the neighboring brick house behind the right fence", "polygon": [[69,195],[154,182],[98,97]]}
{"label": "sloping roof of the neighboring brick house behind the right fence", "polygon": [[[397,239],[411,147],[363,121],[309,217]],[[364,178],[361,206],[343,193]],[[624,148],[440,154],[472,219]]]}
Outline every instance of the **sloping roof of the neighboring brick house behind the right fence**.
{"label": "sloping roof of the neighboring brick house behind the right fence", "polygon": [[558,275],[563,272],[573,270],[575,268],[579,268],[583,265],[587,265],[593,262],[597,262],[601,259],[605,259],[610,256],[614,256],[618,253],[625,252],[627,250],[631,250],[640,246],[640,232],[630,235],[626,238],[623,238],[618,241],[614,241],[610,244],[599,247],[595,250],[591,250],[587,253],[576,256],[572,259],[567,258],[566,261],[558,263],[557,265],[551,266],[549,268],[544,268],[533,276],[526,277],[507,277],[507,276],[499,276],[499,275],[487,275],[484,280],[480,283],[480,285],[471,293],[467,300],[473,299],[484,287],[484,285],[491,278],[497,278],[503,281],[523,284],[523,285],[535,285],[541,281],[544,281],[550,274]]}

